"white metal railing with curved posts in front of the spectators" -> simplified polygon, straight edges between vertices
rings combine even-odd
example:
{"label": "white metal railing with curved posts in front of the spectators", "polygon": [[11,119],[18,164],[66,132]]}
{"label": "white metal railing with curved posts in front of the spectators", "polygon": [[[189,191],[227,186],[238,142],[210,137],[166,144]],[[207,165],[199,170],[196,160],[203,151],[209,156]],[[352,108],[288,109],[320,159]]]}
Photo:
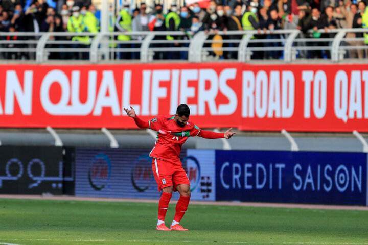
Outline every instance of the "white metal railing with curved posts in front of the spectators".
{"label": "white metal railing with curved posts in front of the spectators", "polygon": [[[24,55],[37,63],[45,63],[58,54],[58,59],[85,59],[91,63],[119,60],[122,53],[135,54],[130,59],[142,63],[158,59],[181,59],[189,62],[213,61],[219,58],[216,51],[231,54],[230,59],[249,62],[257,58],[255,54],[275,51],[279,59],[289,63],[298,59],[298,54],[311,51],[328,52],[331,61],[340,62],[346,58],[349,50],[368,50],[364,38],[346,37],[348,33],[364,33],[365,29],[332,29],[322,38],[305,38],[299,30],[275,30],[273,32],[227,31],[217,32],[222,40],[214,40],[214,33],[198,32],[193,37],[187,32],[108,32],[108,33],[0,33],[0,59],[11,59],[6,54],[16,53],[17,59]],[[325,30],[319,30],[325,33]],[[75,36],[84,37],[83,41],[74,40]],[[119,35],[127,35],[131,40],[119,40]],[[166,36],[175,36],[167,40]],[[6,40],[17,37],[17,40]],[[10,37],[10,38],[9,38]],[[88,38],[89,37],[89,38]],[[272,38],[270,38],[272,37]],[[77,38],[78,39],[78,38]],[[214,45],[214,44],[219,45]],[[318,44],[316,44],[318,43]],[[323,43],[323,45],[320,45]],[[358,43],[359,45],[354,45]],[[172,56],[176,52],[176,56]],[[68,55],[70,54],[70,55]],[[166,55],[168,54],[169,57]],[[184,57],[184,58],[183,58]],[[234,58],[235,57],[235,58]],[[179,59],[180,59],[179,58]],[[222,57],[220,57],[222,58]]]}

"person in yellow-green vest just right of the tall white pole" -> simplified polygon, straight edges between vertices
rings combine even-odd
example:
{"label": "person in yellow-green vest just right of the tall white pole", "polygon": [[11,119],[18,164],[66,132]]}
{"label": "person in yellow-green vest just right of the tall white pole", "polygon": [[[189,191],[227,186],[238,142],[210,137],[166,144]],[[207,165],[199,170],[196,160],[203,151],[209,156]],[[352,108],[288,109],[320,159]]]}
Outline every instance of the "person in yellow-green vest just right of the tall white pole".
{"label": "person in yellow-green vest just right of the tall white pole", "polygon": [[[123,9],[120,10],[120,12],[117,16],[117,19],[115,21],[115,27],[120,32],[131,32],[132,18],[130,16],[129,12],[130,12],[129,3],[125,2]],[[125,35],[125,34],[118,35],[118,41],[124,42],[124,41],[129,41],[129,40],[131,40],[130,35]],[[129,43],[119,43],[118,47],[119,48],[130,48],[131,45]],[[127,60],[127,59],[130,59],[130,58],[131,58],[130,52],[127,52],[127,51],[119,52],[119,59]]]}

